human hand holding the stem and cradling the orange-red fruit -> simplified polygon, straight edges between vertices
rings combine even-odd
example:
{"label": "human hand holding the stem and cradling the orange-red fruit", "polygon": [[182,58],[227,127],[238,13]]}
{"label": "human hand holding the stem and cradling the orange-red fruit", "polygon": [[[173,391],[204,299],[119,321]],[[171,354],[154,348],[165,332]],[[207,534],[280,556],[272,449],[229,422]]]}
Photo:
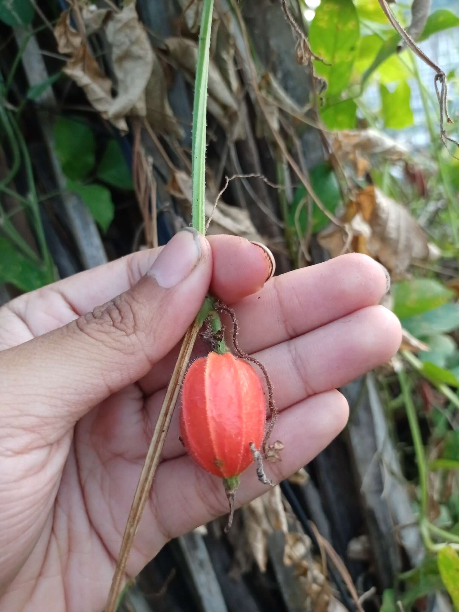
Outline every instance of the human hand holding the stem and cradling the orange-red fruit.
{"label": "human hand holding the stem and cradling the orange-red fruit", "polygon": [[[268,476],[289,476],[344,427],[348,407],[335,387],[400,343],[397,319],[376,305],[383,268],[345,255],[265,285],[270,271],[244,239],[182,231],[163,250],[0,308],[1,612],[102,610],[177,343],[209,285],[234,308],[241,348],[272,379],[274,436],[285,449]],[[248,469],[237,502],[264,490]],[[129,575],[227,504],[220,479],[185,455],[176,411]]]}

